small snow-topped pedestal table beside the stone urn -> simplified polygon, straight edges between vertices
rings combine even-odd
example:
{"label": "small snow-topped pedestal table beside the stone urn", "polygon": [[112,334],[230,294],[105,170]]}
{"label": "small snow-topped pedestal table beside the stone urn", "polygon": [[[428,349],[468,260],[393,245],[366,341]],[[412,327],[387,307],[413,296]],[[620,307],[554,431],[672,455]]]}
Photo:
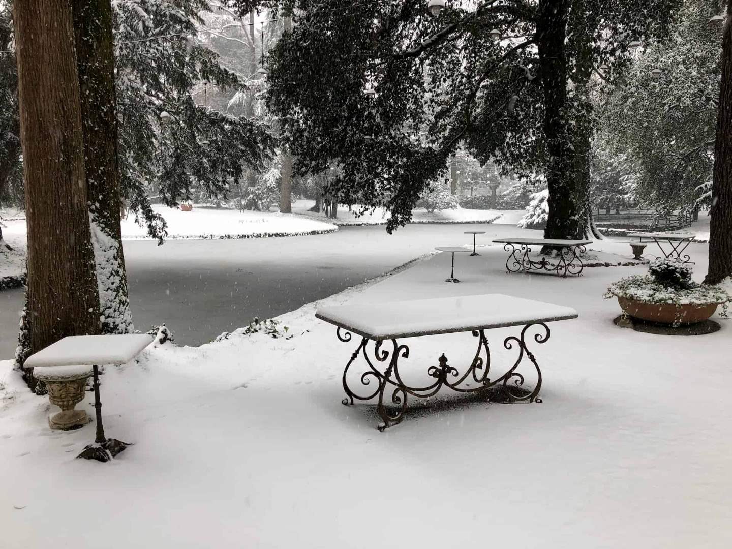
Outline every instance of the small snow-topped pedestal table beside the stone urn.
{"label": "small snow-topped pedestal table beside the stone urn", "polygon": [[107,438],[102,425],[102,400],[99,394],[98,365],[119,366],[138,356],[154,340],[147,334],[71,335],[29,356],[25,368],[89,365],[94,370],[94,408],[97,415],[97,436],[79,458],[108,461],[130,444]]}

